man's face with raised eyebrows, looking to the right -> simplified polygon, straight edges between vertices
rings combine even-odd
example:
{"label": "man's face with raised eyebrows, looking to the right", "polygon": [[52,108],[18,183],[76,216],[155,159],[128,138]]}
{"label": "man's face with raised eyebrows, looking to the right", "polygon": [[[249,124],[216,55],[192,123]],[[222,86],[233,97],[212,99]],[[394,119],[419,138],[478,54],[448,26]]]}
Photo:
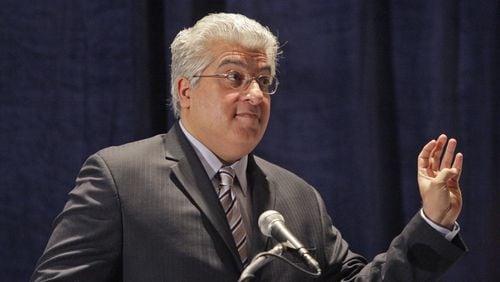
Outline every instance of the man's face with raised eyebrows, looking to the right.
{"label": "man's face with raised eyebrows, looking to the right", "polygon": [[[263,50],[216,43],[209,52],[215,59],[200,75],[231,70],[252,77],[270,75],[270,63]],[[228,87],[224,80],[200,77],[196,86],[187,79],[177,85],[183,125],[222,161],[231,163],[250,153],[262,139],[271,100],[255,80],[241,89]]]}

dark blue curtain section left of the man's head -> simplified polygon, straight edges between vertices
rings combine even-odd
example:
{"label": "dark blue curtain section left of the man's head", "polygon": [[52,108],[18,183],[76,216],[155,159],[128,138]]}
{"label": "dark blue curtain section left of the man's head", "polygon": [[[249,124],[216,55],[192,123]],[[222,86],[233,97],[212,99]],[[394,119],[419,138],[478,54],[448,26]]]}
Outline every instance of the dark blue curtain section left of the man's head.
{"label": "dark blue curtain section left of the man's head", "polygon": [[84,159],[152,129],[135,1],[25,2],[0,4],[2,281],[28,279]]}

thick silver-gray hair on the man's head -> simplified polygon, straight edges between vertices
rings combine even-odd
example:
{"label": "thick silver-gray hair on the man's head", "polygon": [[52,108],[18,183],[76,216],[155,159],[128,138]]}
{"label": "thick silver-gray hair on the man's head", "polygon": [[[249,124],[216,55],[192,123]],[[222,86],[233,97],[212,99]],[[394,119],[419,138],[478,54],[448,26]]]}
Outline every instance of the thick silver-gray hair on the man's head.
{"label": "thick silver-gray hair on the man's head", "polygon": [[261,49],[271,64],[271,74],[276,74],[279,43],[269,28],[239,14],[210,14],[193,27],[181,30],[170,45],[172,65],[170,77],[170,106],[175,117],[180,115],[177,80],[186,77],[195,85],[197,78],[212,62],[213,54],[207,54],[208,44],[213,41],[239,44],[248,49]]}

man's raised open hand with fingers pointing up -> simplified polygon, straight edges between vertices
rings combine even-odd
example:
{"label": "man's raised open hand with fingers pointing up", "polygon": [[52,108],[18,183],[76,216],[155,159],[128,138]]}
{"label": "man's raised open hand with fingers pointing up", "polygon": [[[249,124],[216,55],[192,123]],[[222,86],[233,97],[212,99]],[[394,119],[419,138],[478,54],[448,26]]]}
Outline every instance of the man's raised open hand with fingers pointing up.
{"label": "man's raised open hand with fingers pointing up", "polygon": [[459,179],[463,155],[454,156],[457,141],[441,134],[418,155],[418,187],[425,215],[434,223],[452,229],[462,210]]}

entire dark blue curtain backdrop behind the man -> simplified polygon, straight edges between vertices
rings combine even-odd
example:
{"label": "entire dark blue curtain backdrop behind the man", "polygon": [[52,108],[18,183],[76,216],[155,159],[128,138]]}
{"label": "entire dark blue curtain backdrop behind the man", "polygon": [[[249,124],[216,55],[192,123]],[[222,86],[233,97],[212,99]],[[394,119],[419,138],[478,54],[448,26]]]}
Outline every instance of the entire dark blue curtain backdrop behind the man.
{"label": "entire dark blue curtain backdrop behind the man", "polygon": [[173,123],[168,46],[210,11],[279,36],[257,153],[320,191],[353,250],[372,258],[418,211],[416,157],[443,132],[465,155],[470,247],[444,280],[498,279],[498,0],[2,0],[1,280],[28,279],[89,154]]}

